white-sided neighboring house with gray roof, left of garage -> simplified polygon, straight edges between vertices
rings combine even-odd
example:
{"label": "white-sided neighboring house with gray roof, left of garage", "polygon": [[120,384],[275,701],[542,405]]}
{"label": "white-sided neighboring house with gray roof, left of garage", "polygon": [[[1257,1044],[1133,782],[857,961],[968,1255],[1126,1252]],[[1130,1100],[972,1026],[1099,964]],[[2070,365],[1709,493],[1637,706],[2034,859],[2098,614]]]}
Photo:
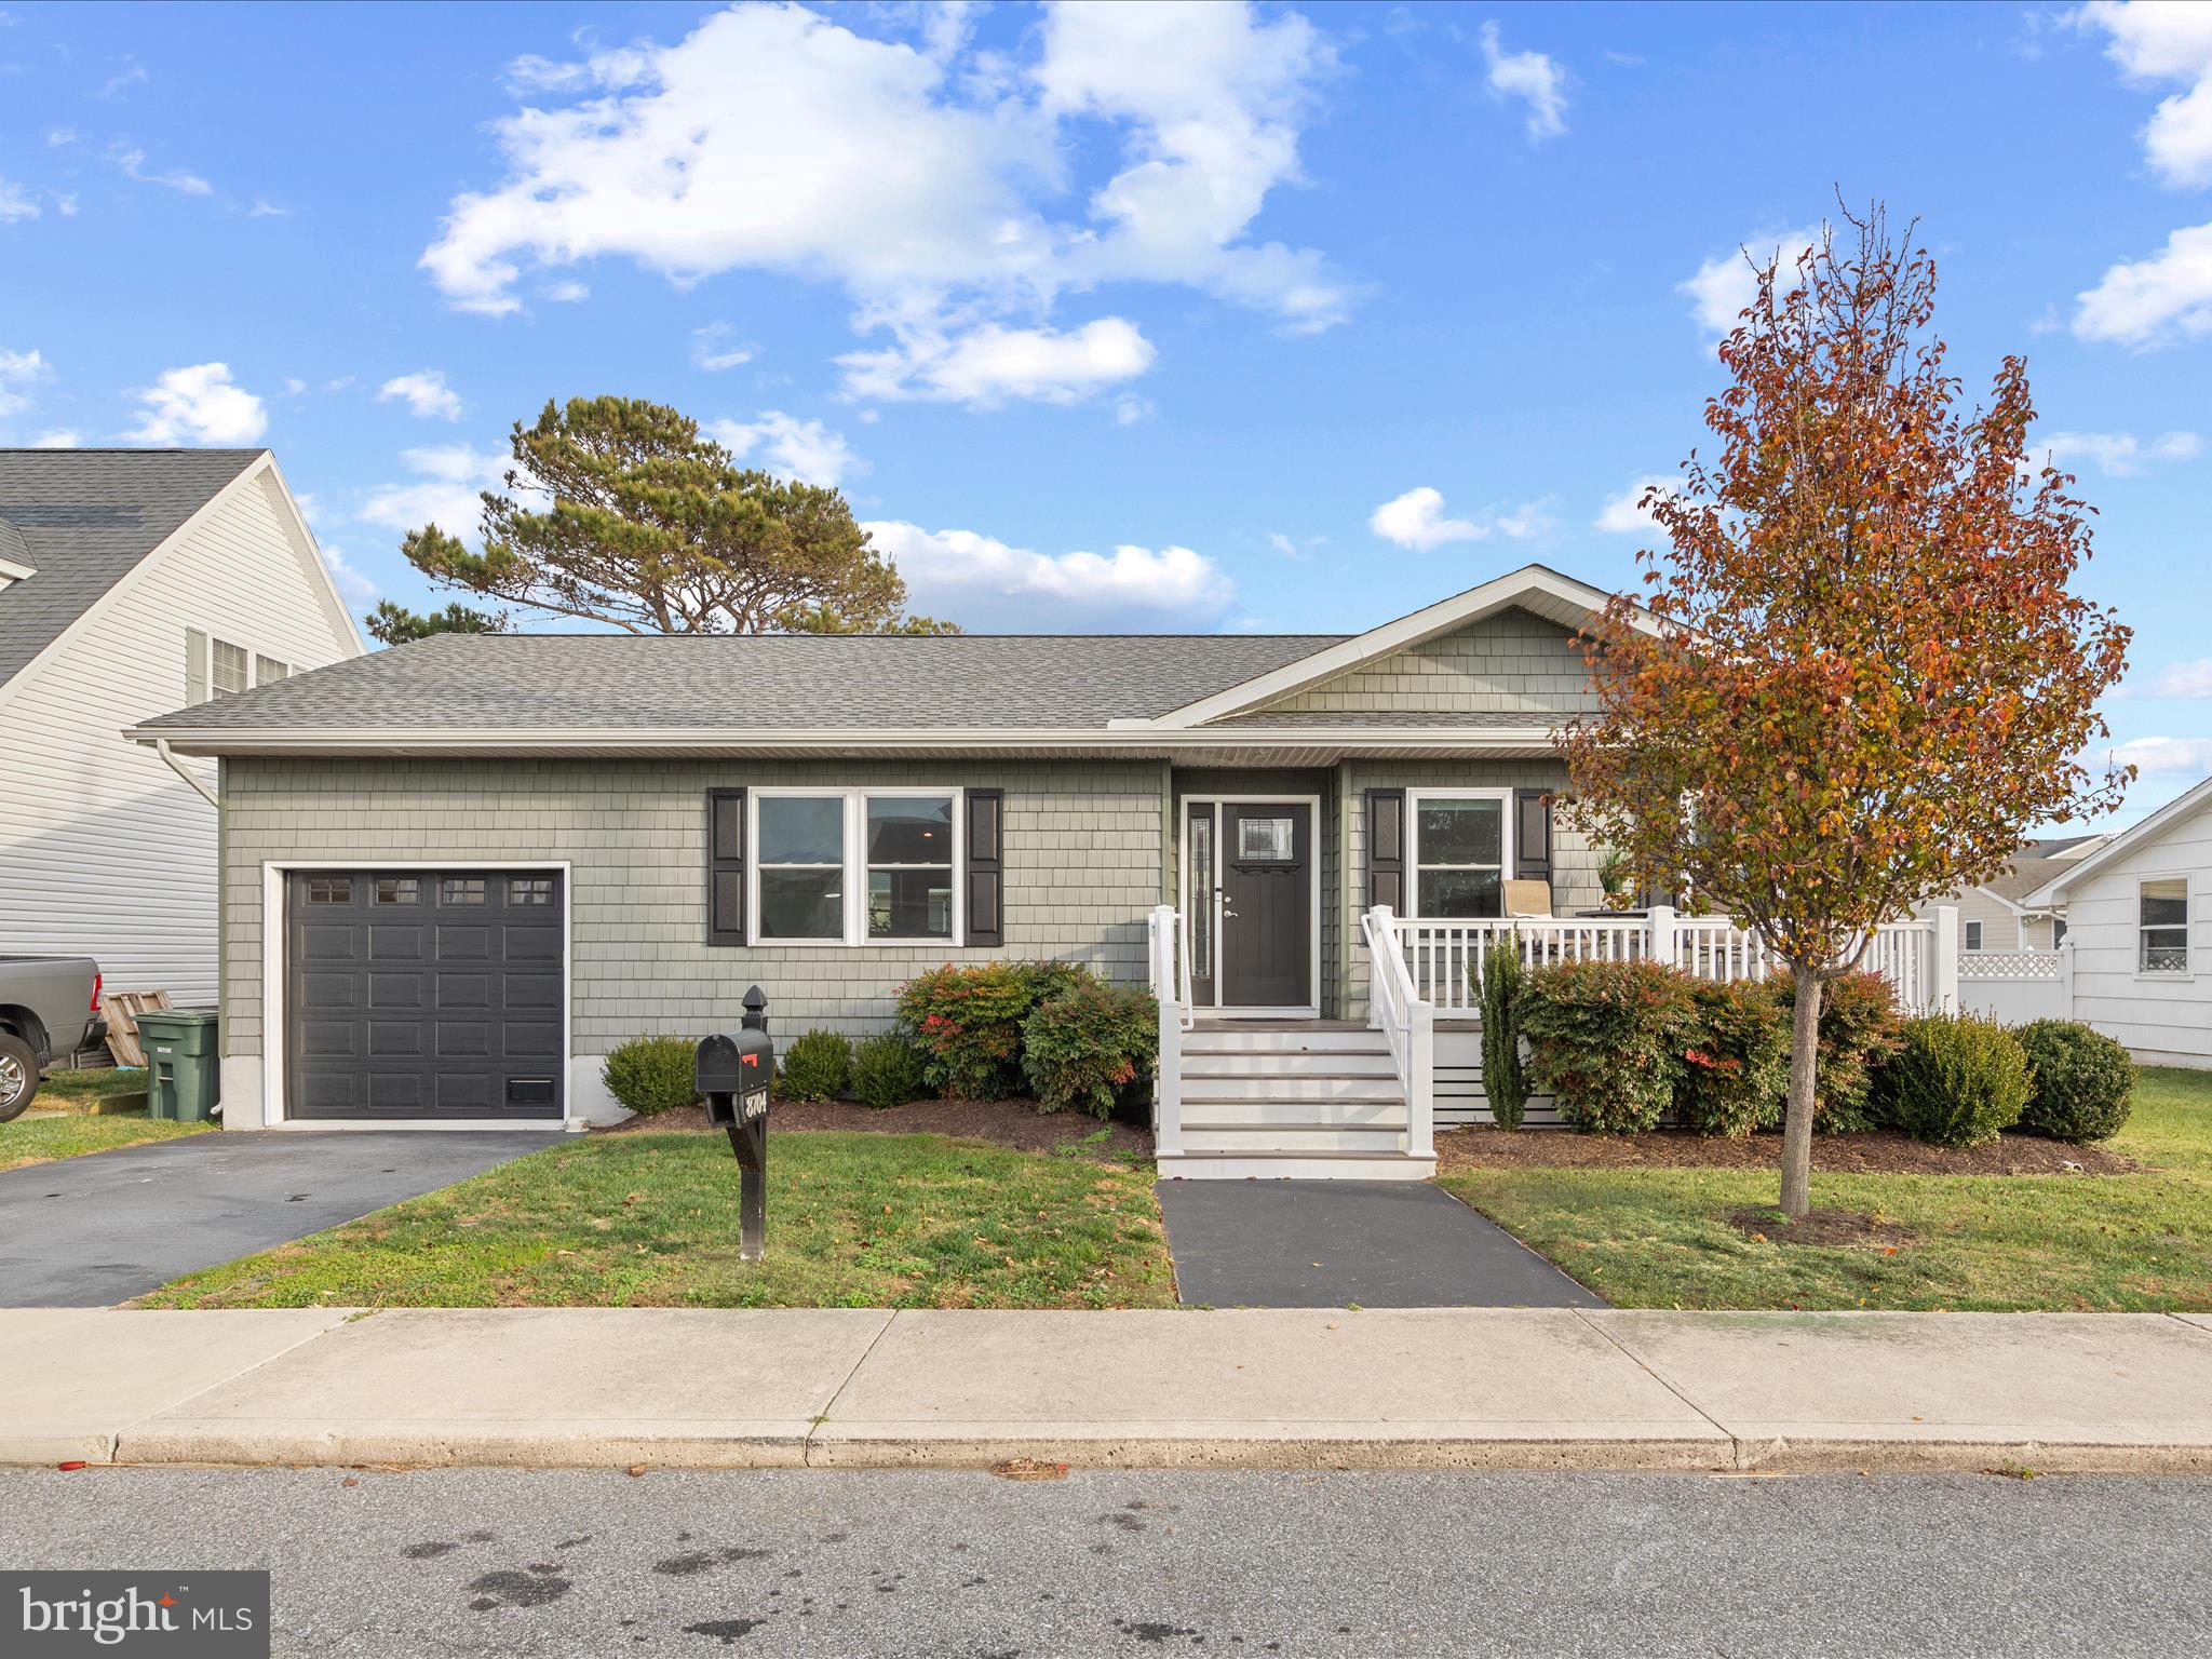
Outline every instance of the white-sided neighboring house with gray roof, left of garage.
{"label": "white-sided neighboring house with gray roof, left of garage", "polygon": [[217,810],[122,732],[361,650],[268,449],[0,449],[0,953],[212,1006]]}

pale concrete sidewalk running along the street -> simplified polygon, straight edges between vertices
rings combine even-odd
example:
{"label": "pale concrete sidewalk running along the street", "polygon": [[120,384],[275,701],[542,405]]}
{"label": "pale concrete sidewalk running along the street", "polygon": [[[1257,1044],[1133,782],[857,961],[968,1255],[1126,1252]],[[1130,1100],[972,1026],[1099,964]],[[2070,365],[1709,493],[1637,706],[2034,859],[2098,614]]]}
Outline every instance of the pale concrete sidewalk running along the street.
{"label": "pale concrete sidewalk running along the street", "polygon": [[0,1462],[2212,1471],[2212,1316],[0,1312]]}

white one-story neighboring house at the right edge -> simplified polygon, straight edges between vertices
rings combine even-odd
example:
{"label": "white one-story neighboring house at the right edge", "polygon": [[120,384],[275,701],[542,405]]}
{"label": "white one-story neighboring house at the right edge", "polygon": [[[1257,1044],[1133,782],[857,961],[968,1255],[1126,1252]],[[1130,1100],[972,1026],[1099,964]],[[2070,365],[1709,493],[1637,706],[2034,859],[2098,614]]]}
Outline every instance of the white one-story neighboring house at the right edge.
{"label": "white one-story neighboring house at the right edge", "polygon": [[2066,907],[2075,1020],[2143,1064],[2212,1071],[2212,779],[2026,902]]}

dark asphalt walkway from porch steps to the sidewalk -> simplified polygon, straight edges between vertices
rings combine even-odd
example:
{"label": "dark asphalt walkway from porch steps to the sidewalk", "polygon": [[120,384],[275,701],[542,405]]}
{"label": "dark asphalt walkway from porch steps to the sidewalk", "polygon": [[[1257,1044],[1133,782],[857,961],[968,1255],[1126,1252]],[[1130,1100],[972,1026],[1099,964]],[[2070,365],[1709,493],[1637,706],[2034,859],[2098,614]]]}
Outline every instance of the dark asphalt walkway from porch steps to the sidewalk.
{"label": "dark asphalt walkway from porch steps to the sidewalk", "polygon": [[1188,1307],[1604,1307],[1429,1181],[1161,1181]]}

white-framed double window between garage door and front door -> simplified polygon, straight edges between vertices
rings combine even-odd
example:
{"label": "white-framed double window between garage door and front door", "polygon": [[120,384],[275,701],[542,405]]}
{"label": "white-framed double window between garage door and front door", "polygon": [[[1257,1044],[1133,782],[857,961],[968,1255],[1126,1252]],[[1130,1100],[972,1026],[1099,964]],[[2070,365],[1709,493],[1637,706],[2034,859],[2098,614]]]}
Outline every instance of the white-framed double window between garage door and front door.
{"label": "white-framed double window between garage door and front door", "polygon": [[960,938],[960,790],[754,790],[754,945]]}

